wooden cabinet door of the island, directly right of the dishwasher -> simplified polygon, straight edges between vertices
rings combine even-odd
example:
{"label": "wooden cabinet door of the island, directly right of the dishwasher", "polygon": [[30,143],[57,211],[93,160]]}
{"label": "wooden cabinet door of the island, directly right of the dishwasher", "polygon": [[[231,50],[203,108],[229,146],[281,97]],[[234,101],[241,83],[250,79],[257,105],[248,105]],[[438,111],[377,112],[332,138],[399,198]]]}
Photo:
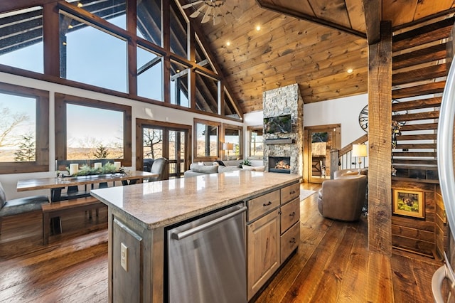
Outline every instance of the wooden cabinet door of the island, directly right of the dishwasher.
{"label": "wooden cabinet door of the island, directly right of the dishwasher", "polygon": [[247,225],[247,251],[250,300],[281,264],[278,208]]}

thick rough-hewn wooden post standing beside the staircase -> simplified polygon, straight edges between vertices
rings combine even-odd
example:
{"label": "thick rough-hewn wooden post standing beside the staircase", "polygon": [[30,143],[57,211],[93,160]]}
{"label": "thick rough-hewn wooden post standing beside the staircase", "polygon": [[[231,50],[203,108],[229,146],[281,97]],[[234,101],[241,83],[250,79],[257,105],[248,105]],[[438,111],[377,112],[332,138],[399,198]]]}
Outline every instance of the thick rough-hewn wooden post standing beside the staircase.
{"label": "thick rough-hewn wooden post standing beside the staircase", "polygon": [[392,24],[368,47],[368,246],[392,254]]}

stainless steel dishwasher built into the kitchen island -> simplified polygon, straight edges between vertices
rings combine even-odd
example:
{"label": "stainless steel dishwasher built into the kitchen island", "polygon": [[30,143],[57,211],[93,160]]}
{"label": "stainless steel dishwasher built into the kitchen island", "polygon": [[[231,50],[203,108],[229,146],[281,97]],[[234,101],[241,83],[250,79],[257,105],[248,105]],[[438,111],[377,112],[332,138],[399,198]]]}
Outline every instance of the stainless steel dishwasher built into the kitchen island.
{"label": "stainless steel dishwasher built into the kitchen island", "polygon": [[167,230],[168,302],[247,302],[246,210],[238,203]]}

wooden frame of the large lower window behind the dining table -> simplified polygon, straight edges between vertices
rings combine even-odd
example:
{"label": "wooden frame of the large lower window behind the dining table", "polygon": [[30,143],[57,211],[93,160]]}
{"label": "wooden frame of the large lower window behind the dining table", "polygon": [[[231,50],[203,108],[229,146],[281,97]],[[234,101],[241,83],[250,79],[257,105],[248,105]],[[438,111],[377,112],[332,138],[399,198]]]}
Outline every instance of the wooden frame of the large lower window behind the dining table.
{"label": "wooden frame of the large lower window behind the dining table", "polygon": [[[127,105],[61,93],[55,93],[55,160],[67,160],[66,105],[68,104],[123,112],[123,159],[115,160],[122,161],[123,166],[132,166],[132,108]],[[63,142],[63,144],[60,144],[60,142]]]}

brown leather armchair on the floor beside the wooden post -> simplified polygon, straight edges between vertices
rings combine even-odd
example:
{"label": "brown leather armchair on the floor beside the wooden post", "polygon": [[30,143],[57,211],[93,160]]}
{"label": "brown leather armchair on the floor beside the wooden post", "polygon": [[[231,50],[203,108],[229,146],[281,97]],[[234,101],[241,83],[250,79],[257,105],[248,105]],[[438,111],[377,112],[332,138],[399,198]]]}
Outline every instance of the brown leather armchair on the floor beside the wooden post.
{"label": "brown leather armchair on the floor beside the wooden post", "polygon": [[335,220],[358,220],[365,203],[366,188],[365,175],[346,175],[323,181],[318,196],[319,213]]}

